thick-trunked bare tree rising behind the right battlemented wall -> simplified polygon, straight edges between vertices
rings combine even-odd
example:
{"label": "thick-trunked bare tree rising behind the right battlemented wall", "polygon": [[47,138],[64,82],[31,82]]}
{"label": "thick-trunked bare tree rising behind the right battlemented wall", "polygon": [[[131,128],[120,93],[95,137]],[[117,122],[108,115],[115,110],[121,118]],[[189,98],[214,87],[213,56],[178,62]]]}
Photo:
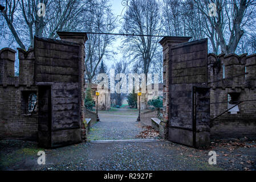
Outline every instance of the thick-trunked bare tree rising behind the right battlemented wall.
{"label": "thick-trunked bare tree rising behind the right battlemented wall", "polygon": [[[245,31],[255,23],[253,0],[193,0],[198,9],[208,19],[209,27],[214,28],[220,40],[222,53],[234,53]],[[215,3],[217,16],[209,14],[209,4]]]}

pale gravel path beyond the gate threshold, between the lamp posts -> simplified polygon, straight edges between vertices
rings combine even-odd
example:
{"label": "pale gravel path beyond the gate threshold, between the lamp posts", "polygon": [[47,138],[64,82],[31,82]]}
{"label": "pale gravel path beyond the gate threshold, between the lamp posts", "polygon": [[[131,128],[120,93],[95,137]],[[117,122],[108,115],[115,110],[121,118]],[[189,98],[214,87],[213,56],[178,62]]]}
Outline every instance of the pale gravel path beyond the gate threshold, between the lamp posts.
{"label": "pale gravel path beyond the gate threshold, between the lamp posts", "polygon": [[100,122],[91,128],[88,140],[137,139],[136,135],[144,130],[136,122],[138,114],[134,109],[99,111]]}

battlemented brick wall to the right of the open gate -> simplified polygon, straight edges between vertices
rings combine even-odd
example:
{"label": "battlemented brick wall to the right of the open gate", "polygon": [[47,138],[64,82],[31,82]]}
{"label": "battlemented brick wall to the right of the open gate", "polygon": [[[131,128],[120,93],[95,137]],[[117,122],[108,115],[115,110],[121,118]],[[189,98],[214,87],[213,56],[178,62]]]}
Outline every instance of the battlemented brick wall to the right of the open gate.
{"label": "battlemented brick wall to the right of the open gate", "polygon": [[[225,65],[225,71],[224,71]],[[223,72],[225,78],[238,75],[239,73],[249,73],[235,77],[231,80],[224,80],[209,84],[210,90],[210,117],[214,118],[227,110],[227,94],[239,93],[238,101],[255,100],[255,78],[256,78],[256,54],[255,55],[208,55],[208,81],[222,79]],[[216,102],[224,102],[214,104]],[[256,136],[256,101],[242,102],[238,105],[239,114],[225,113],[221,117],[211,122],[211,138],[239,138]]]}

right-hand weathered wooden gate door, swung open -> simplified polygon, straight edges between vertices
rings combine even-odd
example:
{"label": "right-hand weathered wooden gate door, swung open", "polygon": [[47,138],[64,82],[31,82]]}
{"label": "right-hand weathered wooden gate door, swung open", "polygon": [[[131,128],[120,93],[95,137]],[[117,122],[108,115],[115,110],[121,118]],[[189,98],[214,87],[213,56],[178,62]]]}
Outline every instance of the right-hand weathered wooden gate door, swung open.
{"label": "right-hand weathered wooden gate door, swung open", "polygon": [[195,89],[206,86],[206,68],[207,39],[170,47],[168,139],[173,142],[198,147],[209,144],[209,101],[199,99],[206,100],[209,90]]}

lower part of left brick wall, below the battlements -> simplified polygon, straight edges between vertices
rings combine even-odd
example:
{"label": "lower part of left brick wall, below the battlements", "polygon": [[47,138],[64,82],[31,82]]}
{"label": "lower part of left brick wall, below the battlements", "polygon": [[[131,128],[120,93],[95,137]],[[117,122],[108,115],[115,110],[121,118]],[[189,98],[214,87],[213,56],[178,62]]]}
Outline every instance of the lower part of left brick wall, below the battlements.
{"label": "lower part of left brick wall, below the battlements", "polygon": [[38,120],[36,112],[25,114],[22,107],[22,91],[35,90],[35,86],[26,88],[13,85],[2,88],[0,86],[0,138],[18,138],[36,140],[38,133]]}

